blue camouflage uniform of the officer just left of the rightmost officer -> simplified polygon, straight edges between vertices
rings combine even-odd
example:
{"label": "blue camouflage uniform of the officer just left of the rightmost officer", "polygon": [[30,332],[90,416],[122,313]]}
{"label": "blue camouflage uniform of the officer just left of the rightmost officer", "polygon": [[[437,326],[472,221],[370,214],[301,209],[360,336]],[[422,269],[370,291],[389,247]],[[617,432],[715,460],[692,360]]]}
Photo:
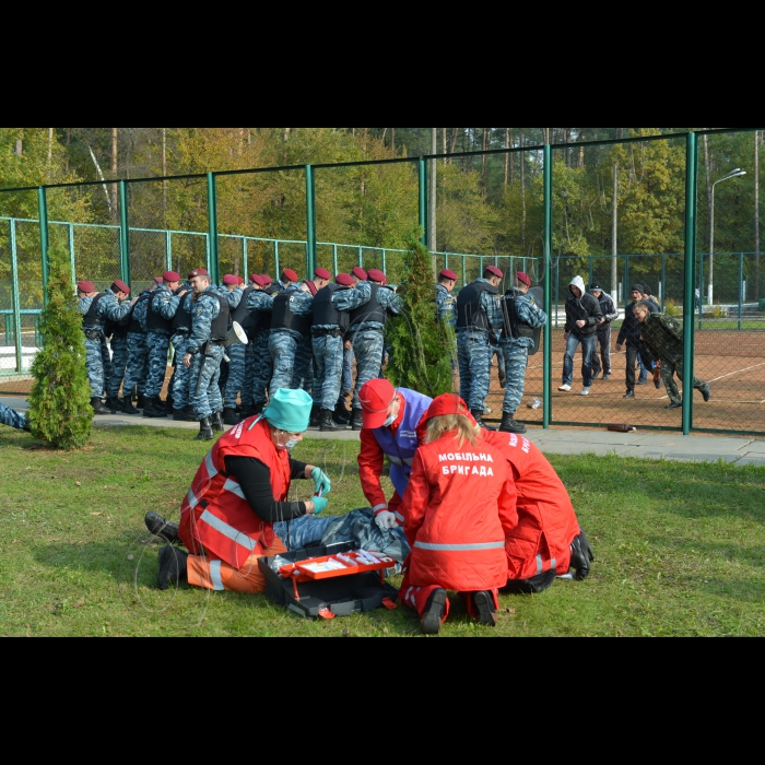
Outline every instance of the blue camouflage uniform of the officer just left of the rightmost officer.
{"label": "blue camouflage uniform of the officer just left of the rightmost officer", "polygon": [[[479,284],[490,284],[479,279]],[[489,292],[481,293],[481,310],[486,315],[492,332],[503,323],[499,303]],[[483,412],[491,385],[494,346],[490,341],[490,330],[481,327],[467,327],[457,332],[457,361],[459,364],[460,397],[471,412]]]}

